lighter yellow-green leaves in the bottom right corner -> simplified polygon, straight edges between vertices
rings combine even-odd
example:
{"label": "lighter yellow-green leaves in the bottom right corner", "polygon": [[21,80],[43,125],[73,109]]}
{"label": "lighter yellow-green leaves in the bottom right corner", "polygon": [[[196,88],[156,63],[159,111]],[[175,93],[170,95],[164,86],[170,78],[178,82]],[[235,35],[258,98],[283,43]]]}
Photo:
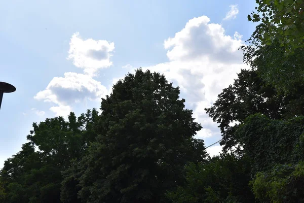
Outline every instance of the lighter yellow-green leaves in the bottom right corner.
{"label": "lighter yellow-green leaves in the bottom right corner", "polygon": [[251,181],[261,202],[303,202],[304,163],[276,165],[269,172],[257,173]]}

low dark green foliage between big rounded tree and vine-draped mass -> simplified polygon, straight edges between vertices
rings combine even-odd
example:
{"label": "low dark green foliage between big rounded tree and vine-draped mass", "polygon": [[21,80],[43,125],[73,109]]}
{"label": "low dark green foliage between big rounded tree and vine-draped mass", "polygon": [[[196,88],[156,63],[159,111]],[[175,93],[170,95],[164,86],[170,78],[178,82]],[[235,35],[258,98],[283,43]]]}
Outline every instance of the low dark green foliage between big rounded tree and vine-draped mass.
{"label": "low dark green foliage between big rounded tree and vine-draped mass", "polygon": [[173,202],[254,202],[246,157],[223,154],[206,163],[190,163],[185,170],[186,184],[167,193]]}

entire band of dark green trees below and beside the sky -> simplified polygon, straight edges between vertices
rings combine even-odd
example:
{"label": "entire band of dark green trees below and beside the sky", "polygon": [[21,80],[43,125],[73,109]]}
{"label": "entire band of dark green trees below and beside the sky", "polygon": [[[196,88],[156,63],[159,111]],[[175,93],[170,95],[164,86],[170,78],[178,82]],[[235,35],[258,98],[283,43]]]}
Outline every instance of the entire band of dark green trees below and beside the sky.
{"label": "entire band of dark green trees below and beside the sky", "polygon": [[240,47],[250,69],[205,109],[220,155],[195,138],[179,87],[139,68],[100,111],[33,123],[0,171],[0,202],[304,202],[304,1],[256,3]]}

